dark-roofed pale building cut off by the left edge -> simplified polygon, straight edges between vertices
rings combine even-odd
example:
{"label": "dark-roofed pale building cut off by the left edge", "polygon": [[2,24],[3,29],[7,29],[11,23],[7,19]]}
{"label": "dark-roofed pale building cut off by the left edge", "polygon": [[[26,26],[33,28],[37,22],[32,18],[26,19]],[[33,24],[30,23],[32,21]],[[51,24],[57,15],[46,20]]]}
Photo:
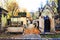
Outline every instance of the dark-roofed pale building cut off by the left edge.
{"label": "dark-roofed pale building cut off by the left edge", "polygon": [[8,11],[0,7],[0,27],[5,26]]}

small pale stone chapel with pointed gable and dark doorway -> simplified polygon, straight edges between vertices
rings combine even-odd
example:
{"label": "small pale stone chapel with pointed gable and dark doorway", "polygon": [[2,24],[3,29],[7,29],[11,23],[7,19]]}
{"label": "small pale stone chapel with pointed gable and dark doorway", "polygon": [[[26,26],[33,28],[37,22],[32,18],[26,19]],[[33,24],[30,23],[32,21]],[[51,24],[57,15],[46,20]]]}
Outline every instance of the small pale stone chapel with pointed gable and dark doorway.
{"label": "small pale stone chapel with pointed gable and dark doorway", "polygon": [[[48,17],[46,17],[48,16]],[[49,5],[45,5],[41,16],[39,17],[39,27],[41,32],[54,32],[55,23],[54,23],[54,12]]]}

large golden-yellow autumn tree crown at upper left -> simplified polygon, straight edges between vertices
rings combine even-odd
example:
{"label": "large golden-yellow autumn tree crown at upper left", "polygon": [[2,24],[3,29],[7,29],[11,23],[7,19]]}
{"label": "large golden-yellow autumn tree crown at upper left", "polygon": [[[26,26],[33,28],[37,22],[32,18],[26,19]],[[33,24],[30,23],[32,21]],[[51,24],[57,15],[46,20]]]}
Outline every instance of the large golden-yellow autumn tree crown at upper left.
{"label": "large golden-yellow autumn tree crown at upper left", "polygon": [[18,16],[18,12],[19,12],[19,7],[18,4],[16,2],[11,2],[7,5],[7,10],[8,13],[11,14],[11,16]]}

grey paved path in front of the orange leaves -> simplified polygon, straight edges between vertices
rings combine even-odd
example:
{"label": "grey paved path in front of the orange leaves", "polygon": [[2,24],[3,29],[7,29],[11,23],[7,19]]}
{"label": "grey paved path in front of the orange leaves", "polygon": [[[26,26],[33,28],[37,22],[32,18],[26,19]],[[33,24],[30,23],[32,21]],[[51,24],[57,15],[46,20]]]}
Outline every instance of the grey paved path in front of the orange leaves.
{"label": "grey paved path in front of the orange leaves", "polygon": [[41,36],[38,34],[25,34],[25,35],[15,35],[13,39],[40,39]]}

